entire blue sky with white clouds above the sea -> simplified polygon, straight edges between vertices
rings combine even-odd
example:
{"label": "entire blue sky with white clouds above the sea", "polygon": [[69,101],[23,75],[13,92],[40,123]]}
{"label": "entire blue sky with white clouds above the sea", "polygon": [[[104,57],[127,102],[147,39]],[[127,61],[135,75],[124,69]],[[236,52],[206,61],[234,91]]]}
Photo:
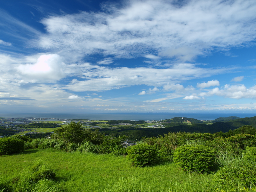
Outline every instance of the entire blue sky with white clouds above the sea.
{"label": "entire blue sky with white clouds above the sea", "polygon": [[256,111],[256,1],[1,1],[2,112]]}

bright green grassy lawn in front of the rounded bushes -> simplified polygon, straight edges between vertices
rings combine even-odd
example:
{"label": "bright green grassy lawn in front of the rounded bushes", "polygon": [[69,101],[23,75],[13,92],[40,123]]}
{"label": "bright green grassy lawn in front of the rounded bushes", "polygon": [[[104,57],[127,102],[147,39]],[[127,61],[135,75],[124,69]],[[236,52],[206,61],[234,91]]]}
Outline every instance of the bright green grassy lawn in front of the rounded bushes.
{"label": "bright green grassy lawn in front of the rounded bushes", "polygon": [[124,156],[67,153],[51,148],[0,156],[0,177],[16,177],[38,158],[54,168],[57,178],[54,182],[67,192],[118,191],[120,187],[129,188],[131,182],[141,192],[214,191],[212,175],[189,174],[173,163],[140,168],[132,167]]}

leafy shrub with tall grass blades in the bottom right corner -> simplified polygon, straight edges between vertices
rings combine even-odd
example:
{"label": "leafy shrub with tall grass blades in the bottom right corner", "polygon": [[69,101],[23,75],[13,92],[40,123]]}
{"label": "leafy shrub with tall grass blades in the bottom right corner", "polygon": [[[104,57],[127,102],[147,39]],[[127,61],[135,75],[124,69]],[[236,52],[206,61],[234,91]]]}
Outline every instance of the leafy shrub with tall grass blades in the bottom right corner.
{"label": "leafy shrub with tall grass blades in the bottom right corner", "polygon": [[214,180],[220,187],[252,188],[256,185],[256,166],[246,158],[236,158],[216,172]]}

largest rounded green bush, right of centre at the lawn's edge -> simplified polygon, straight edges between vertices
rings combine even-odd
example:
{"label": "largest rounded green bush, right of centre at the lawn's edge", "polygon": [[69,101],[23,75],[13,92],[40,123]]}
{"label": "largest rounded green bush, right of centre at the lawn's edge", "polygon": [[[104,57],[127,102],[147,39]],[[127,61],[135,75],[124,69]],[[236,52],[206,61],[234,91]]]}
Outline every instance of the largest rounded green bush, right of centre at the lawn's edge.
{"label": "largest rounded green bush, right of centre at the lawn's edge", "polygon": [[184,145],[176,148],[173,161],[185,171],[209,173],[215,165],[215,154],[207,146]]}

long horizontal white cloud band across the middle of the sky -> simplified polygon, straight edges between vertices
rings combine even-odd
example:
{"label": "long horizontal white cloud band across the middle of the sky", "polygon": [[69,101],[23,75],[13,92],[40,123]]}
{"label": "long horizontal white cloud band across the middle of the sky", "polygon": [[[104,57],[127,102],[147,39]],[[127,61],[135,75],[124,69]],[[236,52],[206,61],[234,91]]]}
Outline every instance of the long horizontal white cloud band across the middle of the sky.
{"label": "long horizontal white cloud band across the middle of the sky", "polygon": [[[79,65],[74,65],[79,67]],[[231,68],[211,69],[199,68],[195,64],[179,63],[170,68],[108,68],[86,64],[86,70],[81,74],[86,80],[72,80],[66,88],[72,91],[102,91],[119,89],[132,85],[164,86],[164,90],[184,90],[183,85],[175,84],[191,79],[197,79],[215,74],[226,73]],[[79,70],[81,72],[81,70]],[[208,84],[217,84],[215,81]],[[188,89],[191,89],[189,87]]]}

